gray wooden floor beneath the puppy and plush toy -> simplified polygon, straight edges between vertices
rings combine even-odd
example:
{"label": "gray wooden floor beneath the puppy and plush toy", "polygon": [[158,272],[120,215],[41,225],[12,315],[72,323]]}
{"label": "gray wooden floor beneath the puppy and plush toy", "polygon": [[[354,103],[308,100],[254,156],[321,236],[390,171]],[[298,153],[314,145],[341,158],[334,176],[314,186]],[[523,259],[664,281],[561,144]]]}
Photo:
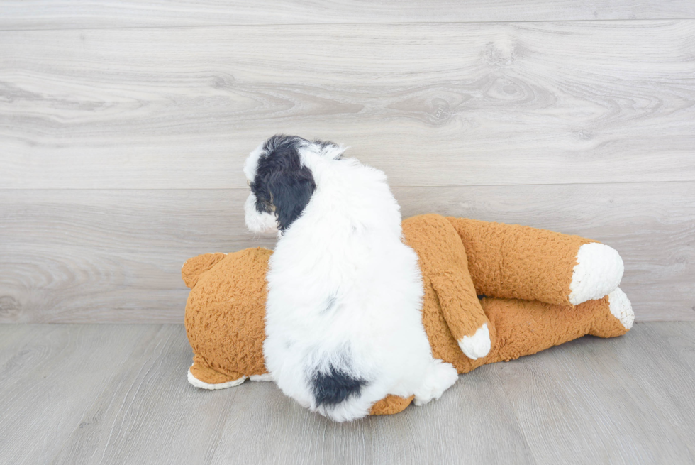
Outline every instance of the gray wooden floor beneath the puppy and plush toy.
{"label": "gray wooden floor beneath the puppy and plush toy", "polygon": [[186,380],[184,327],[0,325],[2,464],[692,464],[694,322],[636,324],[337,424],[272,383]]}

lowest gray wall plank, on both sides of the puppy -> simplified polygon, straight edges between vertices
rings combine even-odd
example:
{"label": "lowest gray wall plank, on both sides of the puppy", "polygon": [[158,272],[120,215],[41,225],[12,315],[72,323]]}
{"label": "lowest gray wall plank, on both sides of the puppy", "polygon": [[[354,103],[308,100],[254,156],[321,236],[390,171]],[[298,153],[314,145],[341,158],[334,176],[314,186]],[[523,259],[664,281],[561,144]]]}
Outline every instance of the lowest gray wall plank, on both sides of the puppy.
{"label": "lowest gray wall plank, on both sides of the puppy", "polygon": [[[616,248],[640,321],[695,319],[695,182],[394,189],[435,212],[579,234]],[[247,190],[0,191],[0,322],[182,322],[182,263],[272,248]]]}

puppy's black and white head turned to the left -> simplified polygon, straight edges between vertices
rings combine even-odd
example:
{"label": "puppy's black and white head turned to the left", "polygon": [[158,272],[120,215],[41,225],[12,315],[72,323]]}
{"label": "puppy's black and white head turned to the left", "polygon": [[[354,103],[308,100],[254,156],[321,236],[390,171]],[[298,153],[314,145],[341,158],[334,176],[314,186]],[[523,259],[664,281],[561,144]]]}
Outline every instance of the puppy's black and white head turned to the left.
{"label": "puppy's black and white head turned to the left", "polygon": [[282,233],[299,218],[316,181],[310,166],[315,158],[340,158],[332,142],[307,141],[297,136],[272,136],[252,151],[244,164],[251,194],[244,205],[246,226],[252,232]]}

